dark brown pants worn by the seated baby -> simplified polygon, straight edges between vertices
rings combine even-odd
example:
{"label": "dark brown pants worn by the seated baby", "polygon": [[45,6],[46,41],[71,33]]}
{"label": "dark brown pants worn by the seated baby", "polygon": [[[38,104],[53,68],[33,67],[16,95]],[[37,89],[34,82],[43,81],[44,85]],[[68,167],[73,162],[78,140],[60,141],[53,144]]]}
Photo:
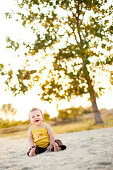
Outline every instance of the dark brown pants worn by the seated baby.
{"label": "dark brown pants worn by the seated baby", "polygon": [[[55,142],[58,144],[58,146],[61,148],[61,150],[66,149],[66,146],[62,144],[62,141],[61,141],[61,140],[56,139]],[[49,145],[48,145],[48,146],[49,146]],[[47,147],[46,147],[46,148],[41,148],[41,147],[36,146],[35,154],[37,155],[37,154],[43,153],[43,152],[46,151],[46,149],[47,149]],[[29,151],[27,152],[27,155],[28,155],[28,156],[29,156],[30,150],[31,150],[31,149],[29,149]],[[52,147],[51,151],[54,152],[54,147]]]}

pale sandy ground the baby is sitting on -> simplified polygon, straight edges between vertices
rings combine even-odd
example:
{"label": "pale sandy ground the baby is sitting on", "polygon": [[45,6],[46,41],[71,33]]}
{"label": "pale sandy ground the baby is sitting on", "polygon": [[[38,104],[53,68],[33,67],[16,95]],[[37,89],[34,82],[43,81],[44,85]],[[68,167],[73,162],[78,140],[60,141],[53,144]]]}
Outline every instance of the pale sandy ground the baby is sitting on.
{"label": "pale sandy ground the baby is sitting on", "polygon": [[56,136],[67,149],[28,157],[28,142],[0,139],[0,170],[113,170],[113,128]]}

